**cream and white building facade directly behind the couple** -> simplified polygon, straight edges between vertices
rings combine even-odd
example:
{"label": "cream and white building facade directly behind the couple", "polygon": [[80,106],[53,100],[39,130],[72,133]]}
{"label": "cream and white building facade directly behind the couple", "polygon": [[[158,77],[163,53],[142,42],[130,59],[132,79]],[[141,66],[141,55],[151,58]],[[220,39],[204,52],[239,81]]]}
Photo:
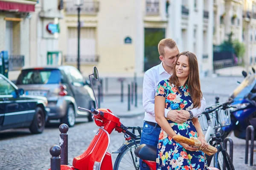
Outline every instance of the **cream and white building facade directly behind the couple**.
{"label": "cream and white building facade directly behind the couple", "polygon": [[[78,11],[64,2],[59,48],[77,65]],[[81,6],[80,70],[105,75],[143,74],[159,63],[157,43],[173,38],[198,57],[202,76],[212,72],[213,0],[87,0]]]}

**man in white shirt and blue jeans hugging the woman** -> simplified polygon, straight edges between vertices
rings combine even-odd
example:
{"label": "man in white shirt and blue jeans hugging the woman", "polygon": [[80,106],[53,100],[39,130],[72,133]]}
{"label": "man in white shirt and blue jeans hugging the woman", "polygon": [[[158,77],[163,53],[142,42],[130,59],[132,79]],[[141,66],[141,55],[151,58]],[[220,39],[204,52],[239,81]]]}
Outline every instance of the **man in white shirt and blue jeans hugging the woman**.
{"label": "man in white shirt and blue jeans hugging the woman", "polygon": [[[145,109],[145,117],[140,144],[149,144],[152,146],[157,146],[161,130],[161,127],[155,121],[154,114],[154,96],[157,85],[160,81],[169,79],[172,75],[177,56],[180,53],[176,42],[170,38],[163,39],[159,42],[158,52],[162,62],[146,71],[143,79],[143,107]],[[200,108],[194,108],[191,111],[165,109],[164,115],[173,122],[183,123],[187,119],[197,118],[205,108],[206,102],[203,97]],[[140,170],[149,170],[142,160],[140,160]]]}

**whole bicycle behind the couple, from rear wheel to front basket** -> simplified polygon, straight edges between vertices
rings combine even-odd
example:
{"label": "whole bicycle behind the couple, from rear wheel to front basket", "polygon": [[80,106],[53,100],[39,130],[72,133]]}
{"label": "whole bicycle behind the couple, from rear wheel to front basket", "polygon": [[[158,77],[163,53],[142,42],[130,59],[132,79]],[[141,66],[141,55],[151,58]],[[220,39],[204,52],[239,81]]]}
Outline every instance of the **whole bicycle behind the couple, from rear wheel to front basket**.
{"label": "whole bicycle behind the couple, from rear wheel to front basket", "polygon": [[[208,166],[211,164],[212,158],[214,158],[214,167],[220,170],[225,170],[225,167],[227,167],[227,170],[234,170],[232,160],[227,153],[221,139],[221,133],[218,132],[218,130],[220,130],[222,127],[230,125],[230,107],[228,105],[231,103],[233,103],[233,101],[209,105],[207,106],[206,110],[201,114],[201,116],[198,117],[202,129],[204,131],[206,130],[206,141],[209,142],[212,146],[216,147],[218,150],[218,152],[214,155],[207,156]],[[207,124],[205,124],[205,122],[207,122]],[[132,129],[133,133],[135,132],[135,130],[138,130],[140,131],[140,135],[138,135],[136,139],[131,139],[125,134],[125,140],[127,140],[127,142],[123,144],[119,148],[119,150],[114,152],[119,153],[114,164],[114,170],[119,170],[119,168],[129,170],[131,170],[132,168],[135,168],[135,170],[140,169],[139,159],[135,156],[134,150],[140,146],[142,127],[128,127],[128,129]],[[126,153],[130,154],[127,156],[130,160],[125,159],[124,155]],[[223,159],[221,159],[220,154],[222,154]],[[124,161],[122,161],[122,159],[124,159]],[[124,165],[121,166],[121,162]]]}

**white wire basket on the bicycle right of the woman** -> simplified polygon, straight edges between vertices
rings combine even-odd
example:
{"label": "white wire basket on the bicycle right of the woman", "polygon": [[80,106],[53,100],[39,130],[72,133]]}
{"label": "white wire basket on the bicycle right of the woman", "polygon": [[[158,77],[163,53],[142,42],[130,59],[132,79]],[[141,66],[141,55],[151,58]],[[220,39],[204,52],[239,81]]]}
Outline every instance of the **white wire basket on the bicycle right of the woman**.
{"label": "white wire basket on the bicycle right of the woman", "polygon": [[[223,103],[217,103],[215,105],[209,105],[207,106],[206,110],[213,109],[215,107],[218,107],[219,105],[222,105]],[[226,110],[223,110],[222,107],[216,109],[212,113],[209,113],[210,120],[212,127],[214,129],[218,129],[220,127],[225,127],[230,125],[230,109],[227,108]],[[198,117],[198,120],[200,122],[200,125],[202,127],[202,130],[207,130],[208,129],[208,124],[207,124],[207,119],[205,114],[201,114]]]}

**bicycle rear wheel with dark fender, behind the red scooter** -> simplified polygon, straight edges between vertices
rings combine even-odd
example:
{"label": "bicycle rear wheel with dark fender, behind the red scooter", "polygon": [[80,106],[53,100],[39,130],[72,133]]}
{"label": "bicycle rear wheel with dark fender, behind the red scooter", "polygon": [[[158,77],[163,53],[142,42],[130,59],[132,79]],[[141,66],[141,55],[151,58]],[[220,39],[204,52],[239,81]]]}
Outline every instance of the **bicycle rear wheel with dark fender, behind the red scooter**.
{"label": "bicycle rear wheel with dark fender, behind the red scooter", "polygon": [[122,152],[116,157],[113,170],[140,170],[140,159],[134,154],[134,150],[140,146],[140,139],[123,145]]}

